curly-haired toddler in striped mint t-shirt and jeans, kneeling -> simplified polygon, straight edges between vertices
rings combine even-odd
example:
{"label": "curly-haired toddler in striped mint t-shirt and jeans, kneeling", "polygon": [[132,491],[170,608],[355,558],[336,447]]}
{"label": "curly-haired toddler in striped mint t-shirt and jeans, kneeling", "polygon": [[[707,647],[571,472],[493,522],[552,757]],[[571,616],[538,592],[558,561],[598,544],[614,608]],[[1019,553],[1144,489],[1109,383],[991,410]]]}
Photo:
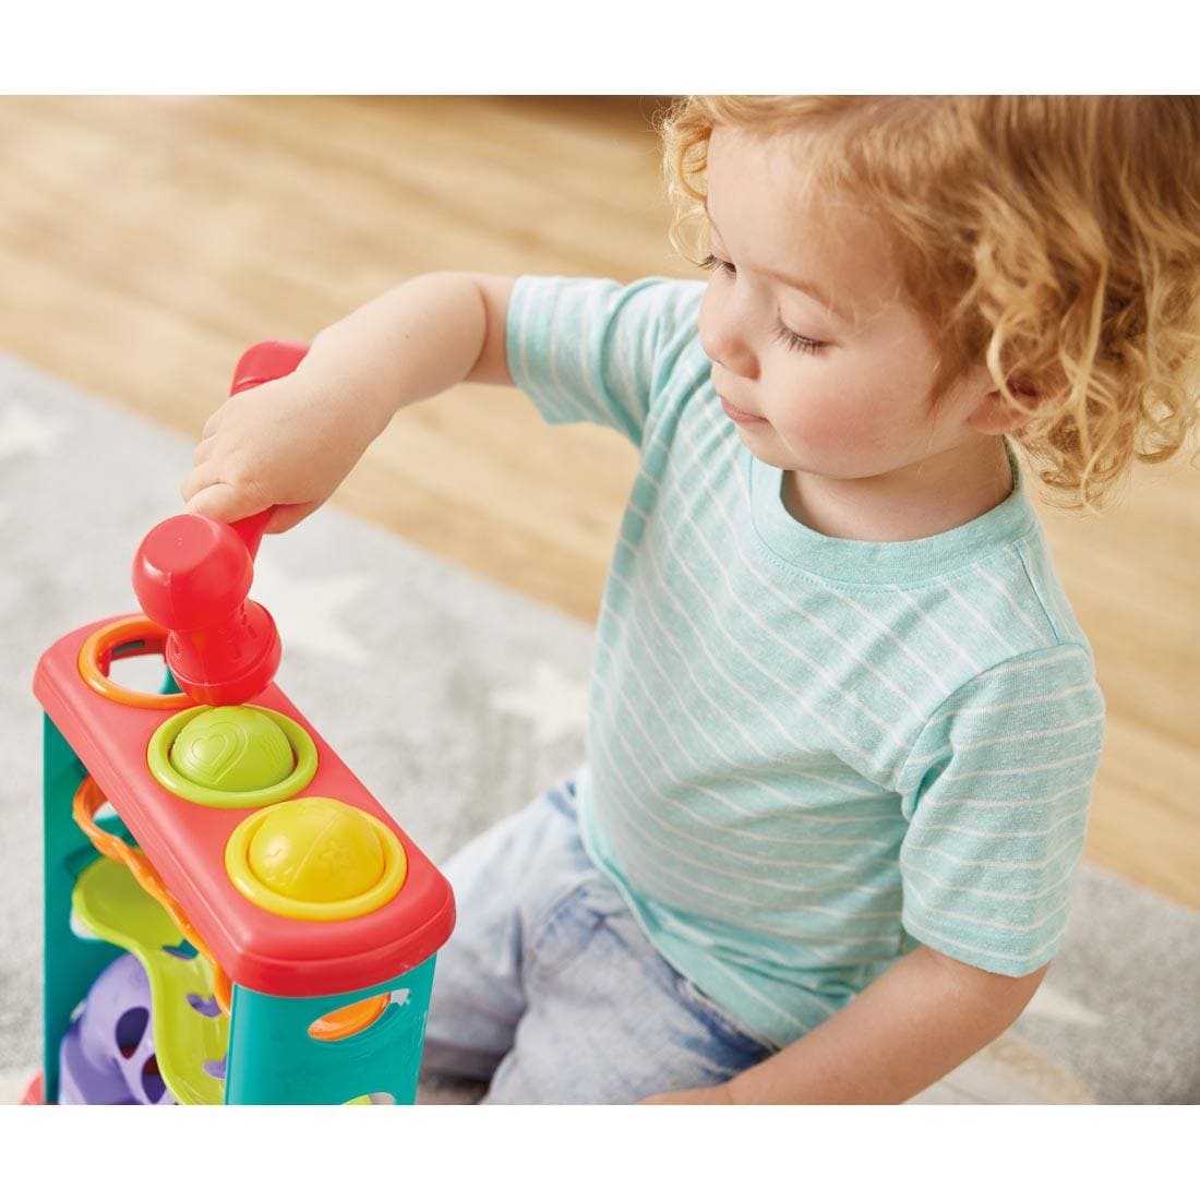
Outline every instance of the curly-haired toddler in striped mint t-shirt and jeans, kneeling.
{"label": "curly-haired toddler in striped mint t-shirt and jeans, kneeling", "polygon": [[445,866],[426,1064],[491,1102],[889,1103],[1058,948],[1104,702],[1030,486],[1196,414],[1196,97],[690,97],[707,283],[433,274],[228,400],[182,494],[322,504],[516,384],[640,449],[587,764]]}

